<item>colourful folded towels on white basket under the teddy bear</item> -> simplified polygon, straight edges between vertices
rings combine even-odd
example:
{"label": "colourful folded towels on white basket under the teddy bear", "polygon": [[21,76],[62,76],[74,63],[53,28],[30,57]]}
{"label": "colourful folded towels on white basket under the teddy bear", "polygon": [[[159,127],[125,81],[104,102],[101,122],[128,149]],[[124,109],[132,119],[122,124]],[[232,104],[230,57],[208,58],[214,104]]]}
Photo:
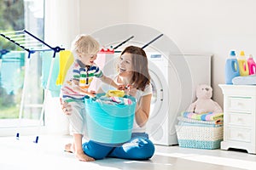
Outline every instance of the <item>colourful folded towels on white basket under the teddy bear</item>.
{"label": "colourful folded towels on white basket under the teddy bear", "polygon": [[184,111],[181,113],[181,116],[187,117],[190,119],[199,120],[199,121],[222,122],[224,113],[207,112],[207,113],[203,113],[203,114],[197,114],[197,113],[193,113],[193,112]]}

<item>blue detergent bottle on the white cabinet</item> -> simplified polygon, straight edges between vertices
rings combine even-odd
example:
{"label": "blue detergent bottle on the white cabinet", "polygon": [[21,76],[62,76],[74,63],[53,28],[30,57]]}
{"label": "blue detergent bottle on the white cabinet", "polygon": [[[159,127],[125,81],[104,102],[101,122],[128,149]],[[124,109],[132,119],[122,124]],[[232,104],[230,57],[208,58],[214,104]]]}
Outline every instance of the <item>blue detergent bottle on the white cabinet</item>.
{"label": "blue detergent bottle on the white cabinet", "polygon": [[239,77],[239,66],[236,59],[236,51],[230,51],[230,57],[226,59],[225,64],[225,82],[226,84],[233,84],[232,79]]}

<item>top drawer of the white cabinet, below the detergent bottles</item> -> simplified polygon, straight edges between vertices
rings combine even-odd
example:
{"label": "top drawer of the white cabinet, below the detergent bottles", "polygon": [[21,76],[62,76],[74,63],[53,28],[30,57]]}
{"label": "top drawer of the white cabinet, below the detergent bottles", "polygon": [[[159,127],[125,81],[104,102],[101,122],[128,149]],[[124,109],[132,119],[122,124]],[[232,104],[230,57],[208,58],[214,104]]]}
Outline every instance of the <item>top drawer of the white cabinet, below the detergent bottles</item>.
{"label": "top drawer of the white cabinet, below the detergent bottles", "polygon": [[229,97],[226,105],[228,111],[253,111],[253,99],[251,97]]}

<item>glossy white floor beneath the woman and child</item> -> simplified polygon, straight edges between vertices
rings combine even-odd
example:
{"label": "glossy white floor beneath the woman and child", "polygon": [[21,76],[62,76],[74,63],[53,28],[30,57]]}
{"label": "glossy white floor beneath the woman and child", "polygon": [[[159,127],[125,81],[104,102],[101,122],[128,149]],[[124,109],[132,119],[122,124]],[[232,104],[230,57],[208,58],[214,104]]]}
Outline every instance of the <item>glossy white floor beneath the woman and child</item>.
{"label": "glossy white floor beneath the woman and child", "polygon": [[94,162],[78,161],[63,151],[71,142],[69,136],[42,135],[38,144],[34,136],[0,137],[1,170],[50,169],[255,169],[256,155],[234,150],[198,150],[178,146],[156,145],[154,156],[148,161],[107,158]]}

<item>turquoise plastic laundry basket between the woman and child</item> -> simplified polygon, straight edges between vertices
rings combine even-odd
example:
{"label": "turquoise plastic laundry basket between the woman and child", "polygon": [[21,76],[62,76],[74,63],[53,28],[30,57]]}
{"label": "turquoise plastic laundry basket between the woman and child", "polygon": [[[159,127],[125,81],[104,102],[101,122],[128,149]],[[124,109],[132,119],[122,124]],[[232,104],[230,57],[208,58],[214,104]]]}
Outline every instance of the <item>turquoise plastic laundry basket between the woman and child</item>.
{"label": "turquoise plastic laundry basket between the woman and child", "polygon": [[[97,94],[97,98],[105,94]],[[119,144],[131,139],[136,99],[131,105],[108,105],[95,99],[84,99],[88,136],[104,144]]]}

